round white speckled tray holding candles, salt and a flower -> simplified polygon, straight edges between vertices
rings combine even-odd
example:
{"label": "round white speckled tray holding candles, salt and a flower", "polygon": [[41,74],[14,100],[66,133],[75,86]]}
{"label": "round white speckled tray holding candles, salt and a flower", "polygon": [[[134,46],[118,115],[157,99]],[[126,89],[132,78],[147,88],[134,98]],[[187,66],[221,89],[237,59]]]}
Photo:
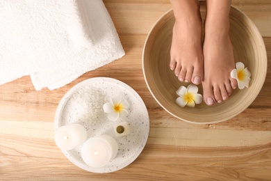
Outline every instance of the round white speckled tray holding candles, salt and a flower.
{"label": "round white speckled tray holding candles, salt and a flower", "polygon": [[[126,136],[115,135],[114,125],[120,120],[108,120],[103,110],[103,105],[115,96],[124,97],[130,104],[129,115],[121,120],[130,125],[131,133]],[[107,134],[118,143],[117,156],[102,168],[92,168],[83,162],[81,145],[73,150],[63,150],[72,163],[93,173],[110,173],[128,166],[140,155],[149,136],[149,115],[141,97],[122,81],[106,77],[82,81],[65,94],[56,110],[55,129],[72,123],[83,125],[88,138]]]}

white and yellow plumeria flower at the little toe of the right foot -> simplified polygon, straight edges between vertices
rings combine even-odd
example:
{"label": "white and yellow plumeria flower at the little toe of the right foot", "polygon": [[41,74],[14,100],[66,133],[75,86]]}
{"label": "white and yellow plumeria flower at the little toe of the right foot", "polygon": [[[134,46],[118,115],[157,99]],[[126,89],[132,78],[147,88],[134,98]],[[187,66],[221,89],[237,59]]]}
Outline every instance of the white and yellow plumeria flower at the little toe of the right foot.
{"label": "white and yellow plumeria flower at the little toe of the right foot", "polygon": [[231,70],[231,77],[237,80],[238,88],[249,87],[249,81],[252,74],[245,68],[242,62],[236,63],[236,69]]}

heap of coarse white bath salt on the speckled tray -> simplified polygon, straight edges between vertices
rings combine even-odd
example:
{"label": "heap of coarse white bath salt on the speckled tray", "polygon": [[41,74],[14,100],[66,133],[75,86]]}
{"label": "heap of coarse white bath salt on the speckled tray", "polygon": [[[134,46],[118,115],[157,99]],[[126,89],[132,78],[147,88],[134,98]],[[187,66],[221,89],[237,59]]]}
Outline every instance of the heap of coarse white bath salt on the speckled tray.
{"label": "heap of coarse white bath salt on the speckled tray", "polygon": [[70,122],[93,123],[104,117],[103,105],[106,93],[99,88],[83,86],[69,98],[65,106]]}

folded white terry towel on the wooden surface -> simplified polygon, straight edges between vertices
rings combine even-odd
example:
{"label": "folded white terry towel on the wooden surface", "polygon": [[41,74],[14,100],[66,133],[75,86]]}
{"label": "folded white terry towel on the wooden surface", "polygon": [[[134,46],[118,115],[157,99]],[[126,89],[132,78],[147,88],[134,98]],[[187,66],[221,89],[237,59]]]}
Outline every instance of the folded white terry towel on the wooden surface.
{"label": "folded white terry towel on the wooden surface", "polygon": [[124,56],[101,0],[3,0],[0,24],[0,84],[31,74],[53,90]]}

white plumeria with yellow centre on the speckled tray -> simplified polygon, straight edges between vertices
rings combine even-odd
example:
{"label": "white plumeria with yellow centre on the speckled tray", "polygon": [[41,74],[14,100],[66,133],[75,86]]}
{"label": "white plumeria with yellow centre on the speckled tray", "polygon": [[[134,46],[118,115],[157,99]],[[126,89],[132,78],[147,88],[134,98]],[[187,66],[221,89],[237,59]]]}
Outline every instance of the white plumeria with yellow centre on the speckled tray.
{"label": "white plumeria with yellow centre on the speckled tray", "polygon": [[110,102],[104,104],[104,112],[108,113],[109,120],[117,120],[128,116],[129,103],[122,97],[113,97]]}

